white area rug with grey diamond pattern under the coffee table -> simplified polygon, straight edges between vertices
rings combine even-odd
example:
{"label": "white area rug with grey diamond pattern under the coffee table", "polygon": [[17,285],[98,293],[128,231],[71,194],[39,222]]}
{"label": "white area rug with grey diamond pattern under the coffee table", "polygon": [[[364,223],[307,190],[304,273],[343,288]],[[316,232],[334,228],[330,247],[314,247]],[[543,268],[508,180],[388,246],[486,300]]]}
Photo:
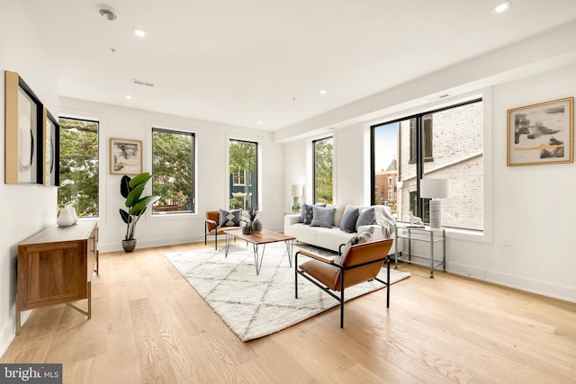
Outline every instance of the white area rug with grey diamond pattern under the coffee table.
{"label": "white area rug with grey diamond pattern under the coffee table", "polygon": [[[294,245],[293,254],[299,249]],[[314,248],[307,249],[320,253]],[[244,342],[273,334],[339,305],[302,276],[298,278],[299,299],[294,298],[294,270],[288,263],[284,242],[266,246],[259,275],[252,246],[239,241],[230,246],[228,257],[223,249],[209,248],[166,254],[166,258]],[[305,260],[308,258],[299,255],[298,263]],[[390,276],[394,283],[406,279],[410,273],[392,267]],[[386,281],[386,268],[378,277]],[[383,287],[378,281],[367,281],[348,288],[345,299]]]}

